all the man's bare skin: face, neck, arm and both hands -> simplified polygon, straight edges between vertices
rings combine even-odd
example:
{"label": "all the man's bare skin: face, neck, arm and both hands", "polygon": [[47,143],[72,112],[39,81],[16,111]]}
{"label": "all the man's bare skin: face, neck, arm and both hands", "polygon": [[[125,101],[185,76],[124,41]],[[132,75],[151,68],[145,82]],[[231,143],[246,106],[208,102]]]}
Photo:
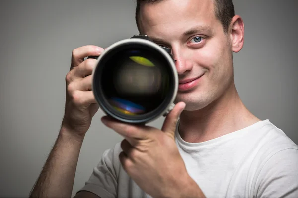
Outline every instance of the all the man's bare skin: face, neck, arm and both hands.
{"label": "all the man's bare skin: face, neck, arm and both hands", "polygon": [[[225,33],[213,6],[212,0],[164,0],[141,7],[142,33],[172,49],[179,80],[203,76],[191,90],[178,92],[176,106],[161,130],[102,118],[107,127],[124,137],[119,156],[123,168],[154,198],[205,197],[188,175],[175,144],[179,115],[179,133],[187,142],[211,140],[259,121],[241,102],[233,79],[232,53],[243,47],[243,20],[234,16]],[[184,35],[189,30],[196,31]],[[193,40],[198,36],[201,41]],[[98,110],[90,91],[96,60],[84,61],[84,57],[102,51],[97,46],[73,51],[61,130],[30,197],[71,197],[79,151]],[[90,192],[75,197],[98,198]]]}

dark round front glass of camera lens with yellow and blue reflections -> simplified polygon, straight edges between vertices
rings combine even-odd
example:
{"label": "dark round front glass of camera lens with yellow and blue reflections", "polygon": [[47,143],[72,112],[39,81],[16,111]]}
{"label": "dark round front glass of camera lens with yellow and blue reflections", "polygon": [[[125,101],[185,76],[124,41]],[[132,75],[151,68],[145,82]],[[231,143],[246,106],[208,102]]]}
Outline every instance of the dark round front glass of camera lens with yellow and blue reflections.
{"label": "dark round front glass of camera lens with yellow and blue reflections", "polygon": [[169,65],[159,52],[124,48],[106,61],[102,89],[109,105],[126,116],[156,109],[169,92]]}

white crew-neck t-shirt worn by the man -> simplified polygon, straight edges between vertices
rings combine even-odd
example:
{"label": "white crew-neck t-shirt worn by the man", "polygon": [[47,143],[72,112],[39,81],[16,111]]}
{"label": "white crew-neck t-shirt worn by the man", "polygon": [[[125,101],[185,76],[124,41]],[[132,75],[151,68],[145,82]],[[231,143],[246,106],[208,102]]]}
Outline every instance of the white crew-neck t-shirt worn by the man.
{"label": "white crew-neck t-shirt worn by the man", "polygon": [[[298,146],[269,120],[202,143],[185,142],[176,131],[176,144],[207,198],[298,198]],[[106,150],[81,190],[151,198],[122,168],[121,151],[119,143]]]}

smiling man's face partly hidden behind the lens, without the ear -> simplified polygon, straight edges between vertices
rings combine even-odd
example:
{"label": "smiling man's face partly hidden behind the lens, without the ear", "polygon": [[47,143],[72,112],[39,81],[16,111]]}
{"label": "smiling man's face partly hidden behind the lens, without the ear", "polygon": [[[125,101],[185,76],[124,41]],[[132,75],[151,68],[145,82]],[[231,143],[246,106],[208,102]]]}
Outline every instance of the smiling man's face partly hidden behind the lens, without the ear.
{"label": "smiling man's face partly hidden behind the lens, without the ear", "polygon": [[216,18],[213,0],[164,0],[144,4],[142,34],[172,49],[179,81],[176,102],[186,110],[204,108],[233,82],[230,35]]}

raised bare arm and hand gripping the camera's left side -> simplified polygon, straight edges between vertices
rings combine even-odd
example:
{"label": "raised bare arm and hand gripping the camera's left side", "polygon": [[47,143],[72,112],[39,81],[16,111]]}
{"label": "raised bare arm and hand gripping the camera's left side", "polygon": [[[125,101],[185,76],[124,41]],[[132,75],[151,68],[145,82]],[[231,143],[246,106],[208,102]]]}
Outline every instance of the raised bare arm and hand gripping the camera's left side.
{"label": "raised bare arm and hand gripping the camera's left side", "polygon": [[74,176],[85,133],[91,125],[98,105],[91,91],[95,59],[104,49],[83,46],[73,50],[71,68],[66,75],[66,103],[62,126],[55,145],[37,179],[30,198],[72,195]]}

